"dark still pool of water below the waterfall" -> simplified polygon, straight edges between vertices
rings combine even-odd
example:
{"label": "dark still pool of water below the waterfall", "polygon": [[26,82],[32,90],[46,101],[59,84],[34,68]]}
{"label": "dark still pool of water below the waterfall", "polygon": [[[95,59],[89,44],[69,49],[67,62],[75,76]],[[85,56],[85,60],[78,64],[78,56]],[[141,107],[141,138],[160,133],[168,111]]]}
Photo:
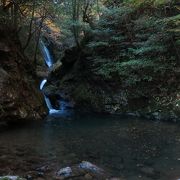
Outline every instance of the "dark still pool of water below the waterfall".
{"label": "dark still pool of water below the waterfall", "polygon": [[180,125],[73,114],[0,131],[0,175],[90,161],[128,180],[180,178]]}

